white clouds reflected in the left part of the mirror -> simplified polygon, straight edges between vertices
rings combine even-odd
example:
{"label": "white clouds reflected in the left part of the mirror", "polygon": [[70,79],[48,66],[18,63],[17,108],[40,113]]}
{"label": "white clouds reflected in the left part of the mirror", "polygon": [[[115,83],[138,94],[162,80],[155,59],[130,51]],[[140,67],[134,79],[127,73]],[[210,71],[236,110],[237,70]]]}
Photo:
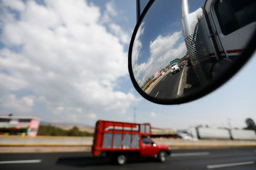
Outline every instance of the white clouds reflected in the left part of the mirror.
{"label": "white clouds reflected in the left part of the mirror", "polygon": [[[156,71],[160,71],[167,66],[170,61],[183,57],[187,52],[185,42],[178,43],[182,38],[181,31],[173,32],[167,36],[159,35],[154,41],[149,42],[150,49],[143,49],[141,36],[147,36],[143,35],[143,30],[142,24],[138,29],[133,46],[133,71],[139,86],[142,86]],[[144,43],[144,46],[146,46],[147,42]],[[142,57],[142,49],[150,50],[150,56],[148,56],[146,62],[138,63],[138,58]]]}

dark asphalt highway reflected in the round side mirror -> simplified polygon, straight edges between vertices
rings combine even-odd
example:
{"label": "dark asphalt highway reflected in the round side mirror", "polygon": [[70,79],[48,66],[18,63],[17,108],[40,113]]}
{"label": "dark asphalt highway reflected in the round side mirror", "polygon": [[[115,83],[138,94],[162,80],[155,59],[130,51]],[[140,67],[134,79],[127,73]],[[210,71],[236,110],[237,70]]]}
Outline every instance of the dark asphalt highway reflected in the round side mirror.
{"label": "dark asphalt highway reflected in the round side mirror", "polygon": [[149,95],[160,99],[174,99],[200,87],[191,65],[185,65],[175,74],[170,72],[163,76],[164,78],[152,88]]}

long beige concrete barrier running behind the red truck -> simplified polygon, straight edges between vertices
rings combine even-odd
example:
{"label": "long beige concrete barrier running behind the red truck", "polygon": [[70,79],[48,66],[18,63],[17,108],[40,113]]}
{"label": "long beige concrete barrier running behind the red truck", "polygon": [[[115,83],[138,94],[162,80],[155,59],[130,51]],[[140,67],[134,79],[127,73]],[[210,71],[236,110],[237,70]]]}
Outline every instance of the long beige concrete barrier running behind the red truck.
{"label": "long beige concrete barrier running behind the red truck", "polygon": [[[153,138],[176,149],[227,148],[256,146],[256,141],[206,140],[187,141],[184,139]],[[85,152],[90,151],[92,137],[0,137],[1,153],[16,152]]]}

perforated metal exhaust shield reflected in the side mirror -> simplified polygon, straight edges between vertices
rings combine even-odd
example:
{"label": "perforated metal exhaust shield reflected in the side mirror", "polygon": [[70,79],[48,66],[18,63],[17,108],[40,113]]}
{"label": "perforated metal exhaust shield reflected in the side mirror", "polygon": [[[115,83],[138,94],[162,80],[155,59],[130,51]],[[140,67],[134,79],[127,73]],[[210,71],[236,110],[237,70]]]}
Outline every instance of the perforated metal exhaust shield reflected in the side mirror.
{"label": "perforated metal exhaust shield reflected in the side mirror", "polygon": [[193,70],[201,85],[204,85],[210,80],[210,67],[212,63],[209,62],[203,41],[200,40],[198,33],[193,33],[185,38],[185,44]]}

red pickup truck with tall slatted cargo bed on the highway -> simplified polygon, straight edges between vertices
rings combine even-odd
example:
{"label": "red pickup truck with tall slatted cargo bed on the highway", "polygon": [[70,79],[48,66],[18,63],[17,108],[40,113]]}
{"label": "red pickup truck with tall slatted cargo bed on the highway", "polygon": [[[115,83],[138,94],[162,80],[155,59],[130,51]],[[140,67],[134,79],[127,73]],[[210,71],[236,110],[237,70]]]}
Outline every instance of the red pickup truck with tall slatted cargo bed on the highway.
{"label": "red pickup truck with tall slatted cargo bed on the highway", "polygon": [[150,124],[126,122],[96,122],[92,154],[104,154],[118,164],[125,164],[130,156],[153,156],[165,162],[171,147],[152,141]]}

